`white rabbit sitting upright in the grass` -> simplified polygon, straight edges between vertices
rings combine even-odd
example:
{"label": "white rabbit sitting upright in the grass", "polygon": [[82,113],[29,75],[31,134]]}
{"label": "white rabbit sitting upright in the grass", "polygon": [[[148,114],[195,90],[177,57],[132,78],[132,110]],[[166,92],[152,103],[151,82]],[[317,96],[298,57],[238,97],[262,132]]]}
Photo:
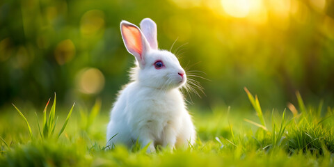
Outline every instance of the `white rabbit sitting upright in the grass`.
{"label": "white rabbit sitting upright in the grass", "polygon": [[147,152],[155,146],[187,147],[196,139],[191,116],[180,88],[186,74],[174,54],[158,49],[157,25],[141,21],[141,29],[120,22],[125,47],[136,58],[131,82],[124,86],[111,110],[106,145],[121,143],[130,147],[136,140]]}

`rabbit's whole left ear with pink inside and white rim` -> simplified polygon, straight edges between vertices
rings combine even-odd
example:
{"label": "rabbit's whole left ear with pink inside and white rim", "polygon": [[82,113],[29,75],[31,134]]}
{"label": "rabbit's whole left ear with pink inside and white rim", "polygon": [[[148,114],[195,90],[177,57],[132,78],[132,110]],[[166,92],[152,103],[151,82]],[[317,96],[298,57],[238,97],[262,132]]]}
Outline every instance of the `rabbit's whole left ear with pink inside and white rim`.
{"label": "rabbit's whole left ear with pink inside and white rim", "polygon": [[138,26],[122,21],[120,31],[127,51],[136,57],[140,65],[145,64],[144,55],[150,50],[150,45]]}

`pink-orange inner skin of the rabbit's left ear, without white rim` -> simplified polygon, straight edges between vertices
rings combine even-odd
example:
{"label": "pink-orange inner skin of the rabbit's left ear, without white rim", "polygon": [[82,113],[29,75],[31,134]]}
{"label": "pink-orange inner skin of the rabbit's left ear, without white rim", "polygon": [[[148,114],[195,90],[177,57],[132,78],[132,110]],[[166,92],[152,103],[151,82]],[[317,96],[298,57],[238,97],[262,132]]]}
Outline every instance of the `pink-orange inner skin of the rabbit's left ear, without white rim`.
{"label": "pink-orange inner skin of the rabbit's left ear, without white rim", "polygon": [[134,51],[138,53],[139,56],[142,56],[143,43],[141,41],[141,32],[134,26],[123,25],[122,33],[129,51]]}

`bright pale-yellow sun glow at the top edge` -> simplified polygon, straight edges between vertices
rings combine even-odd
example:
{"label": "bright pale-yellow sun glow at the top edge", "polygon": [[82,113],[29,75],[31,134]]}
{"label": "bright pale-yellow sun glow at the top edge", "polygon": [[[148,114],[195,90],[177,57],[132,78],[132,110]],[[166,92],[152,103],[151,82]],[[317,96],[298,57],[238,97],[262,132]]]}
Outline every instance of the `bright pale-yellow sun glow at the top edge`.
{"label": "bright pale-yellow sun glow at the top edge", "polygon": [[246,17],[250,10],[249,0],[221,0],[225,12],[232,17]]}

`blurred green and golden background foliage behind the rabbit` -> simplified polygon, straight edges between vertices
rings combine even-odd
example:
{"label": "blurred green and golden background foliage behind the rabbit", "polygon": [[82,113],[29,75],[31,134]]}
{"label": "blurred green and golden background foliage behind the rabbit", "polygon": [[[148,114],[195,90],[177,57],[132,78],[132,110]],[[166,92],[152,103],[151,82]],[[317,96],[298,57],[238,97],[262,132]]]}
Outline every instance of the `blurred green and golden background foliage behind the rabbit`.
{"label": "blurred green and golden background foliage behind the rabbit", "polygon": [[[111,108],[128,79],[119,24],[157,23],[160,49],[180,47],[180,63],[205,72],[194,107],[285,108],[299,90],[307,104],[334,99],[334,3],[329,0],[2,0],[0,109],[58,104]],[[187,98],[190,100],[189,95]],[[28,104],[27,104],[28,103]]]}

